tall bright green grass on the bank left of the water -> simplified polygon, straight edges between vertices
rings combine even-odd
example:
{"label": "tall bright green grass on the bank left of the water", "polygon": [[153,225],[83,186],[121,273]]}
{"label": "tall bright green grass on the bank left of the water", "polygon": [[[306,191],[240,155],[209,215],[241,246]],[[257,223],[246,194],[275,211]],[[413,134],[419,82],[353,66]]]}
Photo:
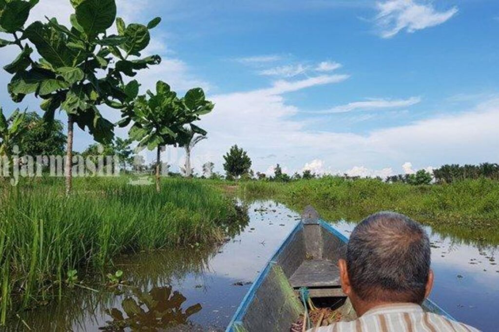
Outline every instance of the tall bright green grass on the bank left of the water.
{"label": "tall bright green grass on the bank left of the water", "polygon": [[127,178],[60,179],[0,184],[0,310],[49,299],[67,271],[99,269],[125,251],[219,239],[236,209],[221,190],[200,181],[165,179],[132,186]]}

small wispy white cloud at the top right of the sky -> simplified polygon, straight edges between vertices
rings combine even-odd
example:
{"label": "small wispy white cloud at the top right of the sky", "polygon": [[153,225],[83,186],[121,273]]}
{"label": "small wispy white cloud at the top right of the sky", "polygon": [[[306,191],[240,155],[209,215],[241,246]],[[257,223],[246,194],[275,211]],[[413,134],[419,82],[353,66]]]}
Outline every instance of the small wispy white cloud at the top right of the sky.
{"label": "small wispy white cloud at the top right of the sky", "polygon": [[393,37],[403,29],[415,32],[442,24],[458,12],[457,7],[437,11],[431,3],[416,0],[388,0],[378,2],[377,7],[376,23],[383,38]]}

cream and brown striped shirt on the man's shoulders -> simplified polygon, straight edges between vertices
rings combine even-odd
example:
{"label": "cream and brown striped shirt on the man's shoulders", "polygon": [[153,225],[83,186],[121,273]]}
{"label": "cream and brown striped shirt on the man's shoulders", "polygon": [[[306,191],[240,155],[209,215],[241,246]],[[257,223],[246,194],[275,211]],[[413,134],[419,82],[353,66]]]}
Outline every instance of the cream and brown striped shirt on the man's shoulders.
{"label": "cream and brown striped shirt on the man's shoulders", "polygon": [[479,330],[449,320],[443,316],[425,313],[412,303],[375,307],[353,322],[339,322],[308,332],[478,332]]}

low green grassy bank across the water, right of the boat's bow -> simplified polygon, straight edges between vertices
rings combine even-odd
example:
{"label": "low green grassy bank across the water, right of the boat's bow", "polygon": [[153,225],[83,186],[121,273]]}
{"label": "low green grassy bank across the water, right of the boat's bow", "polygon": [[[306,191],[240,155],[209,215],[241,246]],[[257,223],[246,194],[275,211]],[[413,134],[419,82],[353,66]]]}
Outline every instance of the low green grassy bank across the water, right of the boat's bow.
{"label": "low green grassy bank across the water, right of the boat's bow", "polygon": [[499,182],[494,180],[414,186],[325,177],[242,182],[239,191],[250,198],[274,198],[296,210],[311,204],[327,220],[360,221],[377,211],[397,211],[462,240],[499,244]]}

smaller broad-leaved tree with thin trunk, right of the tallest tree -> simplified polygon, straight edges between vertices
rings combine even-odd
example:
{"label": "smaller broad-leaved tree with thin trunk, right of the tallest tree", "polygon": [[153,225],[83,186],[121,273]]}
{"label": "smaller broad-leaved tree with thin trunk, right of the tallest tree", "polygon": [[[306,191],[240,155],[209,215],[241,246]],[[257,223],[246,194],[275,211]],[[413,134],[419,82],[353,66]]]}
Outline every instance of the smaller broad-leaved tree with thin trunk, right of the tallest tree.
{"label": "smaller broad-leaved tree with thin trunk, right of the tallest tree", "polygon": [[[137,150],[156,149],[156,190],[160,191],[161,148],[171,145],[180,146],[186,142],[190,131],[206,135],[206,131],[194,125],[200,116],[210,113],[214,104],[205,98],[201,88],[189,90],[185,97],[178,98],[177,93],[165,82],[156,83],[156,94],[147,91],[137,97],[133,112],[123,114],[120,123],[134,121],[130,129],[130,138],[138,141]],[[188,127],[186,127],[188,126]]]}

